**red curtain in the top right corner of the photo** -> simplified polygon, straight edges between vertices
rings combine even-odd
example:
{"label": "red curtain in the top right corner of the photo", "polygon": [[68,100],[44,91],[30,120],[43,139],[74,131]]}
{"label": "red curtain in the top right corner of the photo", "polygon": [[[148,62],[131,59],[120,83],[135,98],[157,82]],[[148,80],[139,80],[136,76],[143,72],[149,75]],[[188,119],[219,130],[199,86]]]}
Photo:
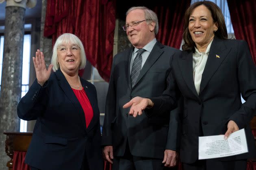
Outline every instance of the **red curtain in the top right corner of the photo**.
{"label": "red curtain in the top right corner of the photo", "polygon": [[256,0],[227,0],[236,39],[247,41],[256,64]]}

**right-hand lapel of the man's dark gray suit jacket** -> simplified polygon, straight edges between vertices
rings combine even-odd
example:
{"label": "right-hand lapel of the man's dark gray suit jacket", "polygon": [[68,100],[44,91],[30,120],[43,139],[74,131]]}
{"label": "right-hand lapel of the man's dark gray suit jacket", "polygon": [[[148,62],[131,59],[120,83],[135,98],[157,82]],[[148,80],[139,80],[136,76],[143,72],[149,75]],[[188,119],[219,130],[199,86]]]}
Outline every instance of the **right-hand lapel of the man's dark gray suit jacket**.
{"label": "right-hand lapel of the man's dark gray suit jacket", "polygon": [[146,74],[146,72],[148,72],[148,70],[156,62],[156,60],[161,56],[161,54],[163,53],[163,50],[161,48],[163,48],[163,45],[157,41],[152,51],[150,52],[148,59],[146,60],[143,67],[141,68],[141,72],[139,73],[139,77],[137,78],[137,81],[134,87],[137,85],[137,83],[139,83],[139,81]]}

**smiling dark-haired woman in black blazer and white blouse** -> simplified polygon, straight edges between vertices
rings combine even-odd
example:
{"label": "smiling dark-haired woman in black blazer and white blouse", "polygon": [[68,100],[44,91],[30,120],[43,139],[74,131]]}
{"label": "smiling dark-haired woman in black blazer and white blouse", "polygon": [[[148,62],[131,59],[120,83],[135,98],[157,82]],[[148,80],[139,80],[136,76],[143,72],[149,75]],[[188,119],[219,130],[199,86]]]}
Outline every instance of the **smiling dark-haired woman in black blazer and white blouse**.
{"label": "smiling dark-haired woman in black blazer and white blouse", "polygon": [[[256,156],[249,122],[256,113],[256,67],[247,43],[227,39],[224,17],[210,1],[195,2],[185,13],[182,55],[170,63],[168,88],[158,98],[133,98],[130,114],[145,107],[165,111],[183,98],[180,160],[184,170],[245,170]],[[246,100],[241,103],[241,95]],[[154,112],[152,112],[154,113]],[[248,153],[198,160],[198,137],[245,129]]]}

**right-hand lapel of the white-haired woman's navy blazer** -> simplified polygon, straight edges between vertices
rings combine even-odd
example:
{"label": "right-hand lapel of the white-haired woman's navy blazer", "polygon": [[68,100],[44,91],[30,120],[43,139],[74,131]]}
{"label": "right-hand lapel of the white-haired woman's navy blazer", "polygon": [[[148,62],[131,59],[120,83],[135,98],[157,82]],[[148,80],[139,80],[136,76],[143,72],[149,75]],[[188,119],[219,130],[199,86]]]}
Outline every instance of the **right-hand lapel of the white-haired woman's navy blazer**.
{"label": "right-hand lapel of the white-haired woman's navy blazer", "polygon": [[89,124],[89,126],[87,127],[87,132],[89,132],[95,125],[95,123],[98,122],[99,120],[99,116],[100,114],[98,113],[98,101],[96,101],[95,96],[93,94],[93,90],[94,89],[89,89],[90,87],[87,86],[86,81],[83,81],[82,79],[80,79],[81,83],[82,83],[82,87],[84,87],[85,93],[89,99],[89,102],[91,103],[91,107],[93,109],[93,117],[91,119],[91,122]]}

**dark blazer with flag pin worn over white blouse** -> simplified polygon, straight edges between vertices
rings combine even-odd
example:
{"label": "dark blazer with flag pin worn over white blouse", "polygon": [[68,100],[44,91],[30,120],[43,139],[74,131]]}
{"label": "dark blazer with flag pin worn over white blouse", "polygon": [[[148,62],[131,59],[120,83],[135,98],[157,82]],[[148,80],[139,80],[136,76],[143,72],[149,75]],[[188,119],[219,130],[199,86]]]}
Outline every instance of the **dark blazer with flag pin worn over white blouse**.
{"label": "dark blazer with flag pin worn over white blouse", "polygon": [[[193,81],[192,58],[192,51],[183,51],[181,57],[173,58],[167,90],[160,98],[152,98],[154,109],[161,110],[175,102],[177,91],[184,98],[181,161],[193,163],[198,159],[200,126],[204,136],[225,134],[229,120],[236,122],[239,129],[245,128],[249,153],[220,160],[254,157],[256,149],[249,122],[256,113],[256,67],[247,43],[214,38],[199,95]],[[244,104],[241,95],[246,100]]]}

